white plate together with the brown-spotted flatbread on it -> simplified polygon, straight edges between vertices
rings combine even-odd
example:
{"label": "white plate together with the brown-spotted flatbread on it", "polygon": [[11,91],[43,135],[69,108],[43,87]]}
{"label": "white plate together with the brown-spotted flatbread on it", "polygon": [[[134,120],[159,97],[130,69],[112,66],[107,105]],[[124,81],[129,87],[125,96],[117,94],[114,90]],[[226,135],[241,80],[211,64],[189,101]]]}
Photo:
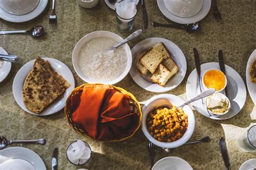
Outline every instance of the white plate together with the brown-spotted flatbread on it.
{"label": "white plate together with the brown-spotted flatbread on it", "polygon": [[74,88],[75,80],[68,66],[57,59],[38,57],[19,69],[12,92],[24,111],[50,115],[64,108]]}

